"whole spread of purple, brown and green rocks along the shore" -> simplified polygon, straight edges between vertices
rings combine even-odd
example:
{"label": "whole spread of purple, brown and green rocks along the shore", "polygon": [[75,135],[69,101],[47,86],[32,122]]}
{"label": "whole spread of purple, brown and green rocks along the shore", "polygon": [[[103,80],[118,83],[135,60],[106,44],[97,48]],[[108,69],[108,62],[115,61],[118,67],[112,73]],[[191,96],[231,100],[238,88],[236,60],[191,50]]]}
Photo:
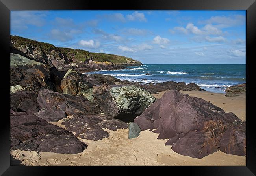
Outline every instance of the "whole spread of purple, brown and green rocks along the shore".
{"label": "whole spread of purple, brown and green rocks along the shore", "polygon": [[[129,136],[134,137],[139,129],[159,133],[158,139],[169,139],[165,145],[172,145],[173,151],[193,158],[218,150],[246,156],[246,121],[179,92],[203,91],[195,83],[139,84],[109,75],[82,74],[84,69],[117,69],[121,65],[105,67],[106,63],[95,65],[87,60],[76,67],[80,62],[67,62],[58,50],[52,50],[50,56],[25,48],[12,42],[11,150],[76,154],[88,147],[81,139],[98,141],[110,136],[108,130],[129,128]],[[237,93],[234,89],[230,92]],[[152,95],[166,90],[170,91],[158,100]],[[62,119],[64,128],[51,124]]]}

